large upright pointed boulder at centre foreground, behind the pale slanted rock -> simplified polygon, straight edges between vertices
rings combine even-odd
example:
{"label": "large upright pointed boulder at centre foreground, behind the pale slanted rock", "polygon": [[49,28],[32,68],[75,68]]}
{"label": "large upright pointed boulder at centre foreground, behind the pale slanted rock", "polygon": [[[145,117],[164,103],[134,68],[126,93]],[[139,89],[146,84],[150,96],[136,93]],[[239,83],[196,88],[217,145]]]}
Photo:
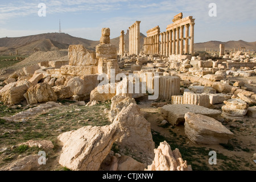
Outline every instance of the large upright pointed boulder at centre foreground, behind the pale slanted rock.
{"label": "large upright pointed boulder at centre foreground, behind the pale slanted rock", "polygon": [[149,158],[154,157],[154,142],[150,129],[150,123],[141,114],[137,104],[131,103],[117,114],[113,123],[118,123],[121,131],[124,131],[117,142],[121,147],[143,152]]}

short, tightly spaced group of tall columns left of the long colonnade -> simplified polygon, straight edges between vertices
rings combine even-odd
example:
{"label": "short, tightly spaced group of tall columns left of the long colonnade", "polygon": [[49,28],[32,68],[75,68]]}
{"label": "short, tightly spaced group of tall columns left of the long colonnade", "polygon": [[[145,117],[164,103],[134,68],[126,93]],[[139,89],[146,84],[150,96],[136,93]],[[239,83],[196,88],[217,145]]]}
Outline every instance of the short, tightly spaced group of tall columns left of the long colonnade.
{"label": "short, tightly spaced group of tall columns left of the long colonnade", "polygon": [[136,21],[132,26],[129,27],[129,55],[139,55],[141,49],[140,45],[140,28],[139,24],[141,21]]}

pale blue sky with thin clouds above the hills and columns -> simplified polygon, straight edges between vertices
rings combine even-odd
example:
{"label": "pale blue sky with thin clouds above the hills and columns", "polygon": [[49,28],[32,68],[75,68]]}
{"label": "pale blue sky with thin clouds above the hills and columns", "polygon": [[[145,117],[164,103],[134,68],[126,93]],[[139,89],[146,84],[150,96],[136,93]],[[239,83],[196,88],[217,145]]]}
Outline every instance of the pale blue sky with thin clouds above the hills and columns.
{"label": "pale blue sky with thin clouds above the hills and columns", "polygon": [[[38,16],[39,3],[46,4],[46,16]],[[210,17],[208,7],[216,3],[217,16]],[[255,0],[35,0],[0,1],[0,38],[59,32],[80,38],[99,40],[101,28],[110,28],[110,38],[125,32],[141,20],[141,32],[155,26],[166,31],[173,17],[195,18],[195,43],[219,40],[256,41]]]}

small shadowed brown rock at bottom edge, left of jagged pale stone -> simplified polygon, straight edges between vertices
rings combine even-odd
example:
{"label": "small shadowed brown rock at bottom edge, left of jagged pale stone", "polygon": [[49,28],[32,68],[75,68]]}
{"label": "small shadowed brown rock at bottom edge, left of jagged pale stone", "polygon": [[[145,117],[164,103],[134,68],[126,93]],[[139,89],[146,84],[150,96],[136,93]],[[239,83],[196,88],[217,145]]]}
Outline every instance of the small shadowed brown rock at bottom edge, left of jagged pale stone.
{"label": "small shadowed brown rock at bottom edge, left of jagged pale stone", "polygon": [[144,164],[137,162],[130,156],[121,156],[118,158],[117,171],[144,171]]}

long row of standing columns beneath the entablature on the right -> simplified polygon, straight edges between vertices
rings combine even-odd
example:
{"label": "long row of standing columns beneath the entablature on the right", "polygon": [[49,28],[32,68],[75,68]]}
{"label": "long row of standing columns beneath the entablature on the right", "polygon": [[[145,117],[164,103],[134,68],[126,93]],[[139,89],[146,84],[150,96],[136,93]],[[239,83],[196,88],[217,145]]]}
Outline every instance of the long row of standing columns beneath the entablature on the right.
{"label": "long row of standing columns beneath the entablature on the right", "polygon": [[[159,42],[159,35],[144,38],[144,52],[147,54],[159,54],[170,56],[172,54],[184,55],[193,54],[194,52],[194,25],[195,23],[185,24],[172,30],[160,33],[161,41]],[[190,36],[189,36],[190,27]],[[185,28],[185,37],[184,37]],[[188,47],[188,40],[189,47]],[[185,46],[184,46],[185,40]],[[159,49],[160,47],[160,49]],[[188,49],[189,48],[189,49]]]}

